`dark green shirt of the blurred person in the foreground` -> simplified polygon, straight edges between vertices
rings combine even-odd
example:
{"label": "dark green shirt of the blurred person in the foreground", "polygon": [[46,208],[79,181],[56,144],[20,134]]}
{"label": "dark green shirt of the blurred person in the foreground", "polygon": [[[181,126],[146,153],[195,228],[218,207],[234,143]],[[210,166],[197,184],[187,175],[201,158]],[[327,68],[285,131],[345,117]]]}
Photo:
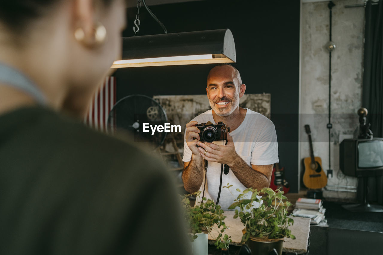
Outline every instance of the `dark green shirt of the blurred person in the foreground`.
{"label": "dark green shirt of the blurred person in the foreground", "polygon": [[0,254],[187,254],[178,201],[142,149],[44,108],[0,116]]}

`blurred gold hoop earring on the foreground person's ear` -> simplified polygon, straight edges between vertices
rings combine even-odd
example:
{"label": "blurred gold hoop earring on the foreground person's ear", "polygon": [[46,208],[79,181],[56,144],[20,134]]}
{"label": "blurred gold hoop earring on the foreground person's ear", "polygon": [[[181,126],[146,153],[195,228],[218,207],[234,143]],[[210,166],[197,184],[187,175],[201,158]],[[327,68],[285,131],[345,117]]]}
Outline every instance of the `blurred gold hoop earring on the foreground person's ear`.
{"label": "blurred gold hoop earring on the foreground person's ear", "polygon": [[95,23],[93,33],[90,38],[86,38],[85,31],[82,27],[79,27],[74,32],[74,37],[77,41],[84,44],[87,47],[100,46],[106,39],[106,28],[100,22]]}

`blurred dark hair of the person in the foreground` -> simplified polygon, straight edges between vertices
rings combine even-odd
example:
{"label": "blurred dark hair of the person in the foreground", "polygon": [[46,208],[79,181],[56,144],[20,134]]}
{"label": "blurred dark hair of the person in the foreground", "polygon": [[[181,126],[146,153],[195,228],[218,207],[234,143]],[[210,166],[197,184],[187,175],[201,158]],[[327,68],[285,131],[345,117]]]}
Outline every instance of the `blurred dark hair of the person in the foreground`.
{"label": "blurred dark hair of the person in the foreground", "polygon": [[[47,14],[63,0],[0,0],[0,23],[15,33],[25,30],[29,21]],[[113,0],[101,0],[108,5]]]}

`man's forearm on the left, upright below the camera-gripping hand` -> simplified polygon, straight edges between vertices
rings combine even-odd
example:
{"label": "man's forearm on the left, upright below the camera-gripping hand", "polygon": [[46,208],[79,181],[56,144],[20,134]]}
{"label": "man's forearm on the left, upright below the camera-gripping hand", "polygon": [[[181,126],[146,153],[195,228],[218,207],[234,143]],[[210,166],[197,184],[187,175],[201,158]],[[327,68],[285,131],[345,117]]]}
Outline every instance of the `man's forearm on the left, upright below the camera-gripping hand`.
{"label": "man's forearm on the left, upright below the camera-gripping hand", "polygon": [[200,189],[203,181],[203,158],[200,155],[192,155],[187,167],[182,172],[183,186],[186,191],[193,193]]}

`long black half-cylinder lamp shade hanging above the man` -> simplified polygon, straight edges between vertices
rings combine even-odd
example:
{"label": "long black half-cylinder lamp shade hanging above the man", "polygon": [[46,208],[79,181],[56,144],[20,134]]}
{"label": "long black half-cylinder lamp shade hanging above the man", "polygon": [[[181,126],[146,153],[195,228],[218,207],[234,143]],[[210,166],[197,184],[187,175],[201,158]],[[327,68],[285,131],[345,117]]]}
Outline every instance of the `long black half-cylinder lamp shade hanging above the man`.
{"label": "long black half-cylinder lamp shade hanging above the man", "polygon": [[229,29],[123,38],[122,60],[112,68],[236,62]]}

